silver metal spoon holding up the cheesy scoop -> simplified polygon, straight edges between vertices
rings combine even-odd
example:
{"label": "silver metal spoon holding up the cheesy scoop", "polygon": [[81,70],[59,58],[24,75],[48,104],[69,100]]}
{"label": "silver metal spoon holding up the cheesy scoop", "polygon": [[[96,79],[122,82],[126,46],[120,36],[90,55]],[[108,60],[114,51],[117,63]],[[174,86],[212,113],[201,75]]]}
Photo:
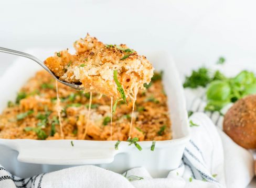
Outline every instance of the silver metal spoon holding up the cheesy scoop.
{"label": "silver metal spoon holding up the cheesy scoop", "polygon": [[9,54],[13,54],[13,55],[19,55],[19,56],[30,58],[31,60],[34,60],[39,65],[41,65],[42,68],[46,69],[47,72],[50,73],[51,76],[54,77],[57,81],[59,81],[61,84],[64,84],[64,85],[69,86],[69,87],[74,88],[74,89],[79,89],[79,90],[83,89],[80,86],[81,83],[70,84],[70,83],[66,83],[65,81],[59,80],[59,78],[57,76],[55,76],[55,74],[52,73],[51,70],[43,62],[41,62],[37,57],[35,57],[33,55],[30,55],[30,54],[27,54],[27,53],[24,53],[24,52],[19,52],[19,51],[16,51],[16,50],[10,50],[10,49],[6,49],[6,48],[2,48],[2,47],[0,47],[0,52],[4,52],[4,53],[9,53]]}

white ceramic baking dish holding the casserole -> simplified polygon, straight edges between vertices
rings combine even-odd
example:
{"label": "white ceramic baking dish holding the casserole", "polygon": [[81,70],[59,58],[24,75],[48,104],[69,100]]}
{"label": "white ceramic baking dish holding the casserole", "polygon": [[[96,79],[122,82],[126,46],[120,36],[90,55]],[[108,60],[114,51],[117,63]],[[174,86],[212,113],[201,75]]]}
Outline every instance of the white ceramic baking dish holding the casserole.
{"label": "white ceramic baking dish holding the casserole", "polygon": [[[52,50],[30,50],[28,53],[44,60],[52,54]],[[139,151],[134,145],[128,146],[127,142],[121,142],[119,150],[115,150],[116,141],[73,140],[72,147],[71,140],[0,139],[0,164],[19,177],[79,164],[95,164],[119,173],[144,166],[153,177],[165,177],[171,169],[177,168],[189,140],[183,87],[175,64],[167,53],[144,54],[156,69],[164,70],[172,140],[156,142],[154,151],[150,150],[152,142],[139,142],[143,148]],[[6,107],[8,100],[15,99],[19,88],[39,69],[39,65],[24,57],[19,57],[8,68],[0,78],[0,111]]]}

